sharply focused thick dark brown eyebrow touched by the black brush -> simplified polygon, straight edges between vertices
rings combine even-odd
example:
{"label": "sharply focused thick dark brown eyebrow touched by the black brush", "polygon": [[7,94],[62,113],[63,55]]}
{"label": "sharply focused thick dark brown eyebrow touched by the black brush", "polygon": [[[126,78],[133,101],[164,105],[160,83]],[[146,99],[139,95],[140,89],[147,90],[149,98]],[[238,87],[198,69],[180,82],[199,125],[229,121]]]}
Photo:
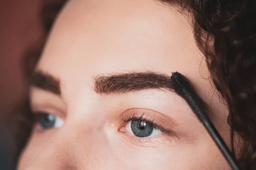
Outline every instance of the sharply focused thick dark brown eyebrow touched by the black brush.
{"label": "sharply focused thick dark brown eyebrow touched by the black brush", "polygon": [[94,91],[98,94],[126,94],[145,89],[167,89],[173,91],[171,77],[155,72],[133,72],[97,76],[94,82]]}

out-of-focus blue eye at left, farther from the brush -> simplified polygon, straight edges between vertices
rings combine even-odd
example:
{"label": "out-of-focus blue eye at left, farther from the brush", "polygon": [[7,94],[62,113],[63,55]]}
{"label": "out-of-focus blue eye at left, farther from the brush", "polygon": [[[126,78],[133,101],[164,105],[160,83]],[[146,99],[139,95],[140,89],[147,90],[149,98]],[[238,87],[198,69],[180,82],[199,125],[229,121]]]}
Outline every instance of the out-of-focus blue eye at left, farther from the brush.
{"label": "out-of-focus blue eye at left, farther from the brush", "polygon": [[37,116],[38,124],[45,130],[53,127],[61,127],[64,124],[63,119],[49,113],[37,113]]}

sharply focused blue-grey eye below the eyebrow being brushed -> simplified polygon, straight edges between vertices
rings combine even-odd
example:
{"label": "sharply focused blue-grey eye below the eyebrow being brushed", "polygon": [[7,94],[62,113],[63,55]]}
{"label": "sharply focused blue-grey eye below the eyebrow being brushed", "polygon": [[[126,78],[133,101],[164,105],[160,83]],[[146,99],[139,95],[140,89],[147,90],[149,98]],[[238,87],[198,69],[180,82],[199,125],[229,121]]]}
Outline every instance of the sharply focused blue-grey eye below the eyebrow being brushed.
{"label": "sharply focused blue-grey eye below the eyebrow being brushed", "polygon": [[155,126],[151,122],[140,119],[131,120],[125,128],[129,133],[134,134],[137,137],[148,137],[163,134],[163,130],[161,130],[160,127]]}

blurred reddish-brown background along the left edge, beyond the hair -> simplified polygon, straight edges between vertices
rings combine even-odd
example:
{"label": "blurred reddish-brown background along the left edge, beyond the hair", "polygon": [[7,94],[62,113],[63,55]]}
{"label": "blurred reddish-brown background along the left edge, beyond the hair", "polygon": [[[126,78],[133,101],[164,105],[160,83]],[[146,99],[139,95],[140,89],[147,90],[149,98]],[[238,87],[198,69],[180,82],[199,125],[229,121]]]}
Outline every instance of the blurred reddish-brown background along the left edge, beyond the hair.
{"label": "blurred reddish-brown background along the left edge, beyond the hair", "polygon": [[15,168],[15,139],[5,118],[26,94],[22,60],[29,46],[42,41],[42,5],[41,0],[0,0],[0,147],[8,169]]}

